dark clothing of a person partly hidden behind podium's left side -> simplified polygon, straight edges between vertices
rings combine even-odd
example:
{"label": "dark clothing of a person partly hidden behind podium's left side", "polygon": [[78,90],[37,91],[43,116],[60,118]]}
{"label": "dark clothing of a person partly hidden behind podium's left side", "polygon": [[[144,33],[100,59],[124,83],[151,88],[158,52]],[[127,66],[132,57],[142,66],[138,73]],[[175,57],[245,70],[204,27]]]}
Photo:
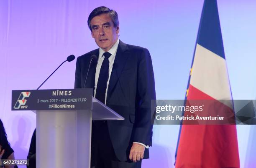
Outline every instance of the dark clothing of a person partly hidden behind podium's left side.
{"label": "dark clothing of a person partly hidden behind podium's left side", "polygon": [[36,168],[36,129],[33,132],[31,143],[28,151],[28,163],[27,168]]}

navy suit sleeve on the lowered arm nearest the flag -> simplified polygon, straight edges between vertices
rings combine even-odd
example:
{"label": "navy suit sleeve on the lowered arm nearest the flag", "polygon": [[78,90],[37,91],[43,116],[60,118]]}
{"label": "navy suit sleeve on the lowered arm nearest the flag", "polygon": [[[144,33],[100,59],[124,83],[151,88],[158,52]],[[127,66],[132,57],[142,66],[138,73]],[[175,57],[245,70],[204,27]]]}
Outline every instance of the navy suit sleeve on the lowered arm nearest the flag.
{"label": "navy suit sleeve on the lowered arm nearest the flag", "polygon": [[150,53],[146,48],[138,63],[136,122],[133,142],[152,146],[151,100],[156,99],[155,80]]}

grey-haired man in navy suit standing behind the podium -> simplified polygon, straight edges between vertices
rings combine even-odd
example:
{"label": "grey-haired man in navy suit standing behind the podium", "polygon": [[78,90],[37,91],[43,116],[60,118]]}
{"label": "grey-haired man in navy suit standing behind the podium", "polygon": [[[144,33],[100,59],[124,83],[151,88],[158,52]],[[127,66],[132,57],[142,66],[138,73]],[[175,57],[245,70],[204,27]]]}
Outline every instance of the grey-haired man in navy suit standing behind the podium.
{"label": "grey-haired man in navy suit standing behind the podium", "polygon": [[[100,48],[77,58],[75,88],[93,88],[98,100],[125,118],[92,123],[91,165],[140,168],[152,146],[151,100],[156,94],[151,56],[146,48],[118,39],[115,10],[95,8],[88,26]],[[92,55],[97,60],[88,72]]]}

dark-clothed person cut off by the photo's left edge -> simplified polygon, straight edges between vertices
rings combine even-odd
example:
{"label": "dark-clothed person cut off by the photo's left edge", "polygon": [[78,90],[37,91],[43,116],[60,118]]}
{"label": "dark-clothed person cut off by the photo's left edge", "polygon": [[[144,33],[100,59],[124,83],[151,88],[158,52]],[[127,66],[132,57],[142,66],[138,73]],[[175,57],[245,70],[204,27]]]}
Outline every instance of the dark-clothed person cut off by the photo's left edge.
{"label": "dark-clothed person cut off by the photo's left edge", "polygon": [[17,166],[14,167],[14,165],[3,166],[1,159],[14,159],[14,151],[10,147],[3,122],[0,119],[0,168],[17,168]]}

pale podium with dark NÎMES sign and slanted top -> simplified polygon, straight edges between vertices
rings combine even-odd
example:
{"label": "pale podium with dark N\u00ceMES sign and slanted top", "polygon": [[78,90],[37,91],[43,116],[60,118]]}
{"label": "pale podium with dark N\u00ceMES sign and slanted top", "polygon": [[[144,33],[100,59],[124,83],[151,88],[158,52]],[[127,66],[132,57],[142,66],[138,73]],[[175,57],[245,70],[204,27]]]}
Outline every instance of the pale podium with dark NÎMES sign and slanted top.
{"label": "pale podium with dark N\u00ceMES sign and slanted top", "polygon": [[[92,97],[92,89],[70,90],[76,92],[86,90],[85,95],[90,97],[87,99],[86,108],[79,110],[39,108],[40,102],[54,100],[47,99],[47,93],[51,93],[51,90],[44,92],[43,98],[38,97],[44,90],[13,90],[13,110],[31,109],[36,112],[36,168],[90,168],[92,120],[124,120],[118,113]],[[65,97],[65,95],[60,96]],[[60,100],[62,101],[56,98],[56,102]],[[38,106],[35,105],[36,101],[39,103]],[[21,103],[20,107],[17,102]],[[50,108],[47,102],[43,105]],[[26,109],[23,106],[27,106]]]}

